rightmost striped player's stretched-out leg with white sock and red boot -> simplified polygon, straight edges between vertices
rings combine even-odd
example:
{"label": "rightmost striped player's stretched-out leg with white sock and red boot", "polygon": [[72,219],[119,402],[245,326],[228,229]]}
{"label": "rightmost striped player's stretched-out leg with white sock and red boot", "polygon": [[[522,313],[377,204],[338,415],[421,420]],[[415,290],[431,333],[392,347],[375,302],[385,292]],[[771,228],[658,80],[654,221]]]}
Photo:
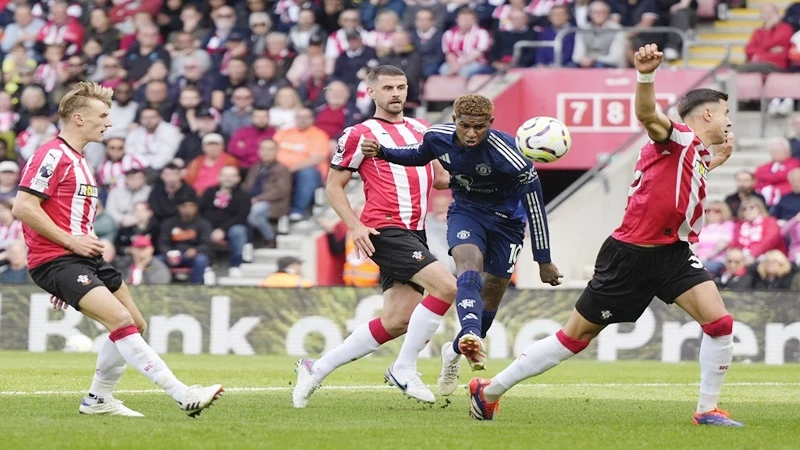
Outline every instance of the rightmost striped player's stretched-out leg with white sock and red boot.
{"label": "rightmost striped player's stretched-out leg with white sock and red boot", "polygon": [[589,322],[573,309],[566,325],[558,333],[531,344],[494,378],[470,380],[470,415],[478,420],[492,420],[500,397],[506,391],[580,353],[603,328],[604,325]]}

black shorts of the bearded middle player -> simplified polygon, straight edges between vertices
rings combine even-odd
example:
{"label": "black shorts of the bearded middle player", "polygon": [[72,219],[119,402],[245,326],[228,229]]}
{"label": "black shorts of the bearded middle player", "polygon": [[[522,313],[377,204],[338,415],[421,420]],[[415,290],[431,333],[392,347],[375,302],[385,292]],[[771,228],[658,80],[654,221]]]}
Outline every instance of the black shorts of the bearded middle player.
{"label": "black shorts of the bearded middle player", "polygon": [[395,283],[408,284],[420,294],[425,289],[411,282],[411,278],[436,257],[428,250],[425,231],[407,230],[397,227],[378,228],[378,235],[370,236],[375,253],[372,260],[381,269],[380,280],[383,291]]}

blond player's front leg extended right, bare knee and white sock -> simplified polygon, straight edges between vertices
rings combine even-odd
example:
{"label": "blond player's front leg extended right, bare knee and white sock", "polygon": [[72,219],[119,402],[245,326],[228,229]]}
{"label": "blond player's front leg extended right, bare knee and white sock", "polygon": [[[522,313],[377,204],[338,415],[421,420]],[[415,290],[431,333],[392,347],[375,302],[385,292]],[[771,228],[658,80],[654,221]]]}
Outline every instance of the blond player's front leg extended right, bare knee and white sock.
{"label": "blond player's front leg extended right, bare knee and white sock", "polygon": [[144,341],[130,311],[105,286],[89,291],[78,306],[83,314],[111,332],[111,341],[128,364],[166,391],[189,416],[197,416],[219,398],[222,393],[219,384],[204,388],[181,383]]}

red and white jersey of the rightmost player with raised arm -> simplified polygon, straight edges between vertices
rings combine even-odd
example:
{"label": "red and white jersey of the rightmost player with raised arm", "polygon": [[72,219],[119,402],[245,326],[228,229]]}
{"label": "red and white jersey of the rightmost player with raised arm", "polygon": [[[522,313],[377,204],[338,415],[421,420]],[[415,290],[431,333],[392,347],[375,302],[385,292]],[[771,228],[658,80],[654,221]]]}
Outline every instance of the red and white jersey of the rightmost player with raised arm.
{"label": "red and white jersey of the rightmost player with raised arm", "polygon": [[694,131],[673,122],[668,142],[651,141],[639,152],[625,217],[611,236],[630,244],[697,242],[710,163]]}

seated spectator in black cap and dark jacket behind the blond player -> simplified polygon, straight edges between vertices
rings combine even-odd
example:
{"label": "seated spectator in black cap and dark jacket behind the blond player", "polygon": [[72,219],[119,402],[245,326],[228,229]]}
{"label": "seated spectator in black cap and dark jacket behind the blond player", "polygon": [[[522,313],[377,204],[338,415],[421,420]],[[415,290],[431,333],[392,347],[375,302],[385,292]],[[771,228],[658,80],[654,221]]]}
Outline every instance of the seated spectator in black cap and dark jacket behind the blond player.
{"label": "seated spectator in black cap and dark jacket behind the blond player", "polygon": [[197,197],[178,203],[178,215],[164,221],[158,238],[159,259],[169,267],[190,268],[189,282],[202,284],[210,266],[211,224],[198,214]]}

